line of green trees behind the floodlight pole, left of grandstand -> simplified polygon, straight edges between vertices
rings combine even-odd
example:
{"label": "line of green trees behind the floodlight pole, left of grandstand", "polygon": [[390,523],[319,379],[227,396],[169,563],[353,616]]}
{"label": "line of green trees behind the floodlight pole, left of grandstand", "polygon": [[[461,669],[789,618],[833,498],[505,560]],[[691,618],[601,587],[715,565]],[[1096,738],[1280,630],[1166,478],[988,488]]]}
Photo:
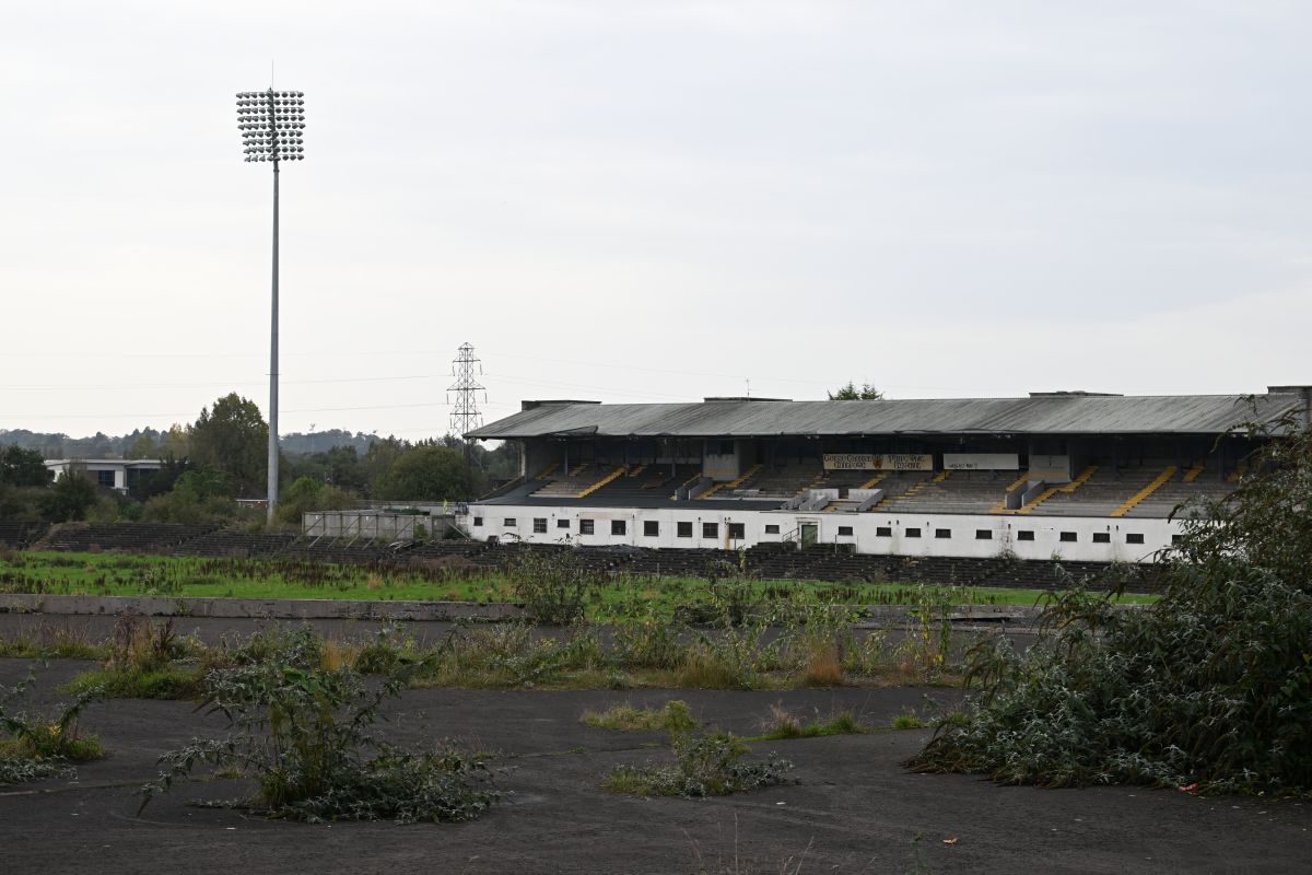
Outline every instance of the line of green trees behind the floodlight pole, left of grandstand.
{"label": "line of green trees behind the floodlight pole, left of grandstand", "polygon": [[[13,434],[0,436],[0,441]],[[299,522],[306,510],[350,508],[367,500],[468,501],[518,474],[517,447],[512,445],[488,450],[466,446],[450,434],[419,442],[370,437],[361,450],[357,436],[349,432],[314,437],[323,449],[306,451],[314,446],[310,441],[282,446],[278,519],[283,523]],[[202,408],[195,422],[168,432],[136,430],[122,438],[121,453],[88,457],[161,459],[157,471],[142,472],[126,493],[97,488],[79,476],[76,467],[52,481],[42,450],[9,443],[0,450],[0,519],[231,521],[255,526],[262,512],[243,508],[237,500],[265,497],[268,439],[268,422],[255,401],[228,394]],[[329,442],[336,439],[342,442]],[[298,453],[287,443],[306,450]]]}

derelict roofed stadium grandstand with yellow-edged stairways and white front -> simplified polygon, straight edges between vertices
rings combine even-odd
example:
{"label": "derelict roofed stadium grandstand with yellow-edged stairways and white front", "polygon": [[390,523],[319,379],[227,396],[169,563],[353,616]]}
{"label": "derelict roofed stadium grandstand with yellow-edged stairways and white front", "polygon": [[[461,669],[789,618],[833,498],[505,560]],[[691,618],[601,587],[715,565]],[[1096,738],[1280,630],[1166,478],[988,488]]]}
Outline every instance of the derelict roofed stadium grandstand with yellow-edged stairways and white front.
{"label": "derelict roofed stadium grandstand with yellow-edged stairways and white front", "polygon": [[1258,395],[701,404],[523,401],[467,434],[516,441],[516,480],[468,505],[480,540],[1151,561],[1224,501],[1312,387]]}

